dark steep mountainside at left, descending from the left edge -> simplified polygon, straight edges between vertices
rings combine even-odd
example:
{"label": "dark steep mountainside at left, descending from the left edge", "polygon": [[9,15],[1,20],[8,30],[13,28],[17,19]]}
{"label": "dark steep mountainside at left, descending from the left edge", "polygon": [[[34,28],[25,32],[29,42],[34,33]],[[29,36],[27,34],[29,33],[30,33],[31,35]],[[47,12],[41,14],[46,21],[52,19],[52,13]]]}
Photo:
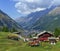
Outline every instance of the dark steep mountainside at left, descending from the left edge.
{"label": "dark steep mountainside at left, descending from the left edge", "polygon": [[22,30],[21,26],[16,23],[11,17],[9,17],[6,13],[0,10],[0,28],[8,27],[8,29],[15,28],[16,30]]}

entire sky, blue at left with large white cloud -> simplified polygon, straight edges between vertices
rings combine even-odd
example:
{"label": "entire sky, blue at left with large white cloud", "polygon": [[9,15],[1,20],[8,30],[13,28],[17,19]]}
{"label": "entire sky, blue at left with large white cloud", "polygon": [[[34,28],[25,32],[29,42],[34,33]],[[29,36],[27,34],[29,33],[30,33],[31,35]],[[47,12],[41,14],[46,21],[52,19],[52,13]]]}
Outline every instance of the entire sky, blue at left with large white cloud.
{"label": "entire sky, blue at left with large white cloud", "polygon": [[60,0],[0,0],[0,9],[13,19],[60,5]]}

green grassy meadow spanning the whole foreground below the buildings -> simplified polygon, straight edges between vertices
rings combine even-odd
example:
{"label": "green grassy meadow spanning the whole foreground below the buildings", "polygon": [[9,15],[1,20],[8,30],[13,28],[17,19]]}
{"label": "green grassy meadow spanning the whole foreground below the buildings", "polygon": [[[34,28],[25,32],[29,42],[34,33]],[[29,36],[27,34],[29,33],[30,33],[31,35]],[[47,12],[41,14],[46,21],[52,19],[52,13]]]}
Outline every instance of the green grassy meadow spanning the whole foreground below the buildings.
{"label": "green grassy meadow spanning the whole foreground below the buildings", "polygon": [[56,45],[42,42],[39,47],[30,47],[22,40],[14,41],[7,38],[9,32],[0,32],[0,51],[60,51],[60,42]]}

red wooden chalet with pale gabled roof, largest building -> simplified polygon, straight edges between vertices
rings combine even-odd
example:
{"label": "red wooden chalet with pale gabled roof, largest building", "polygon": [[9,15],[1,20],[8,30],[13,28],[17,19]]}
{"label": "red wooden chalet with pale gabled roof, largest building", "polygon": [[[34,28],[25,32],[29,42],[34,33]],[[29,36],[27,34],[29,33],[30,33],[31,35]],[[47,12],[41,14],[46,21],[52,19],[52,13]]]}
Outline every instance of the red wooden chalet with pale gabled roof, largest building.
{"label": "red wooden chalet with pale gabled roof, largest building", "polygon": [[51,32],[43,31],[37,35],[39,41],[48,41],[48,37],[53,37]]}

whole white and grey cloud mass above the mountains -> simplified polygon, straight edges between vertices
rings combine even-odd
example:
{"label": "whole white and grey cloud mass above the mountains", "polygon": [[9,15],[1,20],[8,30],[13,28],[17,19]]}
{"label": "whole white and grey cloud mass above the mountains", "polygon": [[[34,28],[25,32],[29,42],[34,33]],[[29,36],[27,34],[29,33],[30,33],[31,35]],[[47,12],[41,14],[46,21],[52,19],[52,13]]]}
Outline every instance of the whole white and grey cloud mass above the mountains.
{"label": "whole white and grey cloud mass above the mountains", "polygon": [[32,12],[45,10],[52,5],[60,4],[59,0],[13,0],[15,8],[21,14],[30,14]]}

